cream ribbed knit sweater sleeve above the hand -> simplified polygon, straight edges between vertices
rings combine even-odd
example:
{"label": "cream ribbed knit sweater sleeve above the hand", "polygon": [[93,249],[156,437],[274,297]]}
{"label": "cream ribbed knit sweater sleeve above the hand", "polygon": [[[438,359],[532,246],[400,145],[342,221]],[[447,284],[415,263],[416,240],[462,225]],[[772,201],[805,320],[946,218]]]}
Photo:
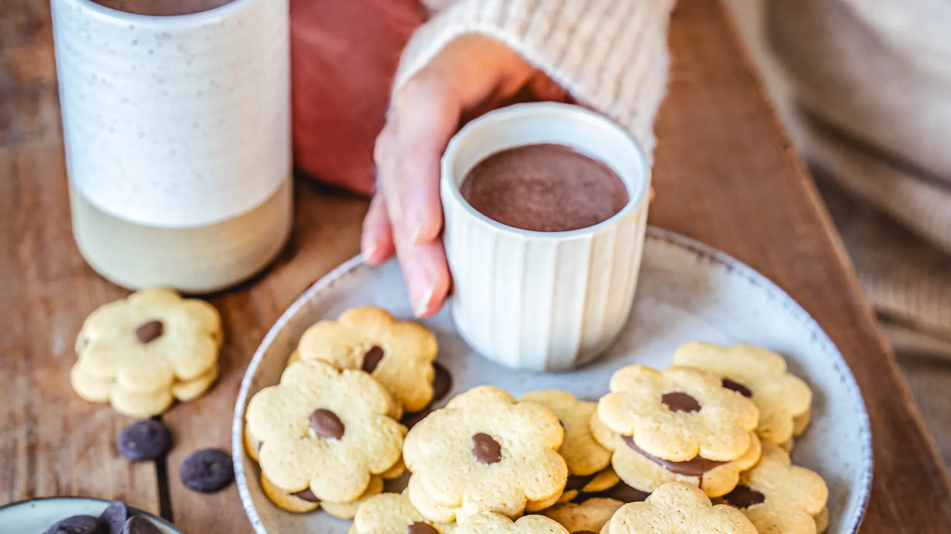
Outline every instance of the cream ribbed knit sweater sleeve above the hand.
{"label": "cream ribbed knit sweater sleeve above the hand", "polygon": [[[443,1],[442,4],[447,2]],[[674,0],[457,0],[417,29],[395,89],[466,33],[519,52],[582,105],[625,125],[650,154],[668,76]]]}

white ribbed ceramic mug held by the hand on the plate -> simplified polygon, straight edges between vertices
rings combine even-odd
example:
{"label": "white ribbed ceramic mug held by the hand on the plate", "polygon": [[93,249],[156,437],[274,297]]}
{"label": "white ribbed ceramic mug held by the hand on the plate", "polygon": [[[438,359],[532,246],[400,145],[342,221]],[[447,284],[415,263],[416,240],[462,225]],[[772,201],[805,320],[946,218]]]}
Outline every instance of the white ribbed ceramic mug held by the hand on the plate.
{"label": "white ribbed ceramic mug held by the hand on the plate", "polygon": [[[477,212],[459,185],[506,148],[557,143],[608,164],[628,188],[616,215],[570,232],[506,226]],[[576,105],[523,104],[467,124],[442,158],[445,246],[459,334],[515,369],[572,369],[604,352],[631,313],[644,248],[650,167],[631,135]]]}

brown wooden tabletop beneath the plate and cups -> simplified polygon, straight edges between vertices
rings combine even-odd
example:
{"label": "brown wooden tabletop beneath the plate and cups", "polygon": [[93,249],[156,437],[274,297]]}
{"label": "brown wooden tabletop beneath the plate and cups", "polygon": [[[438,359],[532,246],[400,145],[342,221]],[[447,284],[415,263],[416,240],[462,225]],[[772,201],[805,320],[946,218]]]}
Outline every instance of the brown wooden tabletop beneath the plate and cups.
{"label": "brown wooden tabletop beneath the plate and cups", "polygon": [[[856,374],[871,416],[875,486],[864,534],[951,532],[951,484],[878,334],[812,181],[789,147],[724,11],[681,0],[671,24],[670,96],[658,120],[653,224],[698,238],[775,280],[816,317]],[[69,388],[84,317],[126,295],[72,242],[46,0],[0,12],[0,504],[42,495],[124,499],[185,532],[247,534],[231,486],[182,486],[190,450],[227,448],[244,366],[315,279],[358,251],[363,200],[299,181],[291,246],[271,269],[211,296],[223,314],[221,382],[165,415],[176,447],[159,465],[113,445],[125,417]]]}

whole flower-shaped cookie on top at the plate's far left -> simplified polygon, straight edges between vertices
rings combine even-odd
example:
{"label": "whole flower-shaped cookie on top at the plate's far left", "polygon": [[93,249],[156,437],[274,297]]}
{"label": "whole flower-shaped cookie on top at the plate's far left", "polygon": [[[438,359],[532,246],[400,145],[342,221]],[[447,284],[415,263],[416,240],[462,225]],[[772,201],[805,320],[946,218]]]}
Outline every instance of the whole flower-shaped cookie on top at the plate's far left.
{"label": "whole flower-shaped cookie on top at the plate's far left", "polygon": [[386,414],[389,393],[369,374],[300,361],[248,403],[248,434],[265,476],[288,492],[350,503],[399,461],[406,428]]}

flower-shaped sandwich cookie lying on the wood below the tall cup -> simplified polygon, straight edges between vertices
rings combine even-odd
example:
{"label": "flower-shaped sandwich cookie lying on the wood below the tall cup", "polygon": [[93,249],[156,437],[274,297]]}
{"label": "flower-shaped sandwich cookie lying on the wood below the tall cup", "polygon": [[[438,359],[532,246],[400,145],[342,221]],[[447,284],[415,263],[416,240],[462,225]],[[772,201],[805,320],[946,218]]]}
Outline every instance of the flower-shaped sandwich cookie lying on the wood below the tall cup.
{"label": "flower-shaped sandwich cookie lying on the wood below the tall cup", "polygon": [[146,417],[191,400],[218,377],[221,316],[204,300],[149,289],[110,302],[76,338],[73,389],[93,402]]}

